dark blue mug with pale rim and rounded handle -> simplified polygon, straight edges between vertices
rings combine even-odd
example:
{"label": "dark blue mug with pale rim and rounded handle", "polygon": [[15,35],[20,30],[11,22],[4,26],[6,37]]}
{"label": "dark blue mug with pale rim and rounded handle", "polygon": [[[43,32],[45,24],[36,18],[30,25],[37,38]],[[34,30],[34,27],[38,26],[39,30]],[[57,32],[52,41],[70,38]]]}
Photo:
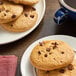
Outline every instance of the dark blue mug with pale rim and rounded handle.
{"label": "dark blue mug with pale rim and rounded handle", "polygon": [[64,2],[64,0],[59,0],[59,4],[61,8],[57,10],[54,15],[54,21],[57,24],[63,23],[68,18],[72,20],[76,20],[76,9],[75,8],[70,7],[68,4]]}

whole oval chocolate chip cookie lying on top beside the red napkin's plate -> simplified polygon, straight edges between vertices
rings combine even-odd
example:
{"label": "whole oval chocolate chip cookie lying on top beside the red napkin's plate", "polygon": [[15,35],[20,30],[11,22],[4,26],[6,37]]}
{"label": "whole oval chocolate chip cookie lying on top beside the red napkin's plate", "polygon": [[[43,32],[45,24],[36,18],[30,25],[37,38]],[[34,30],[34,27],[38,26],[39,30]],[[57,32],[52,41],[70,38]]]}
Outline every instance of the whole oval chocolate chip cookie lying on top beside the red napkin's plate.
{"label": "whole oval chocolate chip cookie lying on top beside the red napkin's plate", "polygon": [[47,40],[34,47],[30,55],[31,64],[41,70],[65,67],[74,58],[73,49],[63,41]]}

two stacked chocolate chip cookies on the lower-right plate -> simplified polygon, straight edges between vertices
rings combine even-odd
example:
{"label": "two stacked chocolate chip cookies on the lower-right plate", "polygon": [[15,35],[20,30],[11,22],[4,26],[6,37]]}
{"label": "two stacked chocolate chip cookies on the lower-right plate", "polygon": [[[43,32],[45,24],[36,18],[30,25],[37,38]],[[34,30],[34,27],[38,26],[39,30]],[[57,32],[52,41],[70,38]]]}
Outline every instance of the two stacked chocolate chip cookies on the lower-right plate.
{"label": "two stacked chocolate chip cookies on the lower-right plate", "polygon": [[37,76],[76,76],[73,49],[60,40],[39,42],[30,55]]}

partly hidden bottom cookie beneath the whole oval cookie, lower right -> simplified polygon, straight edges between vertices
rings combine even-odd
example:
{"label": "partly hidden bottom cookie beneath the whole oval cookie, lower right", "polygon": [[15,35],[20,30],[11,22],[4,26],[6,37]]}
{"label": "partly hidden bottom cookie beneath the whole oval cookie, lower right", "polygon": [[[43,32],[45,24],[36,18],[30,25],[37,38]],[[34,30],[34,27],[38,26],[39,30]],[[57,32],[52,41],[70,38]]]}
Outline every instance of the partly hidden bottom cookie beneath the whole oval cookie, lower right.
{"label": "partly hidden bottom cookie beneath the whole oval cookie, lower right", "polygon": [[76,76],[76,59],[65,68],[53,71],[36,70],[37,76]]}

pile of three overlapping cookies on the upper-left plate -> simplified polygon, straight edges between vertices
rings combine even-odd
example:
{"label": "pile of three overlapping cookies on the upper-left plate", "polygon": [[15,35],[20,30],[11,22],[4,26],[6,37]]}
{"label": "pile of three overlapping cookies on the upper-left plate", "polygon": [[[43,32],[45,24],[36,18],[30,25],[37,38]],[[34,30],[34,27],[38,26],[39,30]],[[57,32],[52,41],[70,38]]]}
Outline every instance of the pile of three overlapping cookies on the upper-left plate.
{"label": "pile of three overlapping cookies on the upper-left plate", "polygon": [[0,0],[0,25],[10,32],[24,32],[37,21],[38,13],[32,5],[38,0]]}

